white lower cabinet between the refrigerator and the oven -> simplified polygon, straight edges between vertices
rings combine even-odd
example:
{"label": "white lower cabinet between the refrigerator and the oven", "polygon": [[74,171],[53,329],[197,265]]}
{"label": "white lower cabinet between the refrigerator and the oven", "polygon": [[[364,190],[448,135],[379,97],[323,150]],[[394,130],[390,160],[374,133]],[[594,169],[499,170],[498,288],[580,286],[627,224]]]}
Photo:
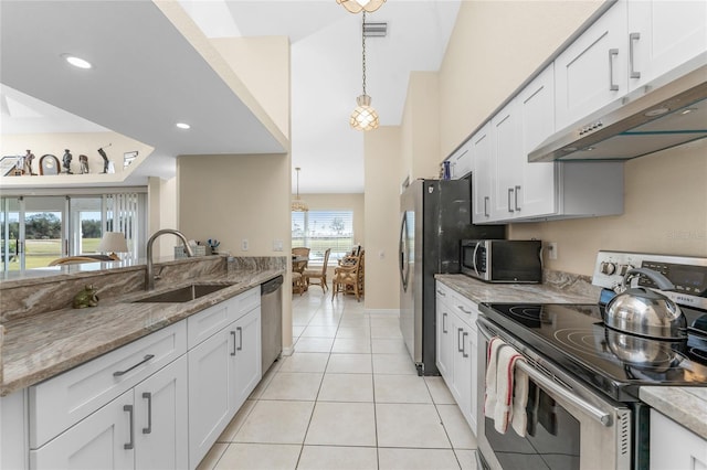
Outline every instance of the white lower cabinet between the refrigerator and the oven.
{"label": "white lower cabinet between the refrigerator and the oven", "polygon": [[476,432],[478,310],[474,302],[440,282],[436,284],[436,302],[437,314],[441,311],[443,320],[436,325],[437,368],[462,415]]}

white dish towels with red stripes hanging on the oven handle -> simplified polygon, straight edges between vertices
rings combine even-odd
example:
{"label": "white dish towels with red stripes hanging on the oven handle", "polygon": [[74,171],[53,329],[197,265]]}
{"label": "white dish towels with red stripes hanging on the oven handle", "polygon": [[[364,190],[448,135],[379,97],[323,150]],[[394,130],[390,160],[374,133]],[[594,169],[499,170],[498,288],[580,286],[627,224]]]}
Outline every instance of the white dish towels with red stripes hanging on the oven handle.
{"label": "white dish towels with red stripes hanging on the oven handle", "polygon": [[520,437],[527,427],[528,376],[516,367],[525,361],[511,345],[494,337],[488,342],[486,357],[486,396],[484,415],[494,420],[494,428],[506,434],[508,426]]}

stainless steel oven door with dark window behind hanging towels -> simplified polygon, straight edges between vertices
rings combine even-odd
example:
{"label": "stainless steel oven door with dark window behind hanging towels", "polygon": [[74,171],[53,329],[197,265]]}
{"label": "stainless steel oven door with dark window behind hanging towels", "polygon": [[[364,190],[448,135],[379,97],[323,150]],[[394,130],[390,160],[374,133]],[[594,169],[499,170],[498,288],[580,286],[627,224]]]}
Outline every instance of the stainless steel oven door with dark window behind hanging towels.
{"label": "stainless steel oven door with dark window behind hanging towels", "polygon": [[[486,469],[630,469],[631,409],[602,398],[484,317],[478,325],[478,450]],[[488,340],[500,337],[521,353],[528,374],[527,431],[505,434],[484,417]],[[539,368],[541,364],[542,370]],[[481,372],[483,371],[483,372]]]}

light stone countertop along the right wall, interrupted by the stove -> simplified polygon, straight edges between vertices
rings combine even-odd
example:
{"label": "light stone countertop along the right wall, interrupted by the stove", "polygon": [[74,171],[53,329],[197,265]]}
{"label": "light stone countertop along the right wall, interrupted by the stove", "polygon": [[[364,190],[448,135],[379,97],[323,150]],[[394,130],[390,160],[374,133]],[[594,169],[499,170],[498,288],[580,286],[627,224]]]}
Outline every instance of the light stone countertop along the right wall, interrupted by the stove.
{"label": "light stone countertop along the right wall, interrupted by the stove", "polygon": [[[568,290],[556,284],[485,284],[463,275],[435,276],[445,286],[474,302],[595,303],[599,290],[570,282]],[[704,378],[703,378],[704,380]],[[707,386],[643,386],[639,397],[657,412],[707,439]]]}

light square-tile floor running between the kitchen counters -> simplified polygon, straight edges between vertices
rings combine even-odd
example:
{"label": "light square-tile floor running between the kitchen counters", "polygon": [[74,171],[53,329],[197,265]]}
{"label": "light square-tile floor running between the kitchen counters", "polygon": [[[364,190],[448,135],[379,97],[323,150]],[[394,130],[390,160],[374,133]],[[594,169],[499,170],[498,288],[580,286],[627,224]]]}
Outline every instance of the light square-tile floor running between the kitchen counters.
{"label": "light square-tile floor running between the kitchen counters", "polygon": [[199,466],[476,469],[442,377],[420,377],[398,318],[313,288],[293,297],[295,353],[275,362]]}

